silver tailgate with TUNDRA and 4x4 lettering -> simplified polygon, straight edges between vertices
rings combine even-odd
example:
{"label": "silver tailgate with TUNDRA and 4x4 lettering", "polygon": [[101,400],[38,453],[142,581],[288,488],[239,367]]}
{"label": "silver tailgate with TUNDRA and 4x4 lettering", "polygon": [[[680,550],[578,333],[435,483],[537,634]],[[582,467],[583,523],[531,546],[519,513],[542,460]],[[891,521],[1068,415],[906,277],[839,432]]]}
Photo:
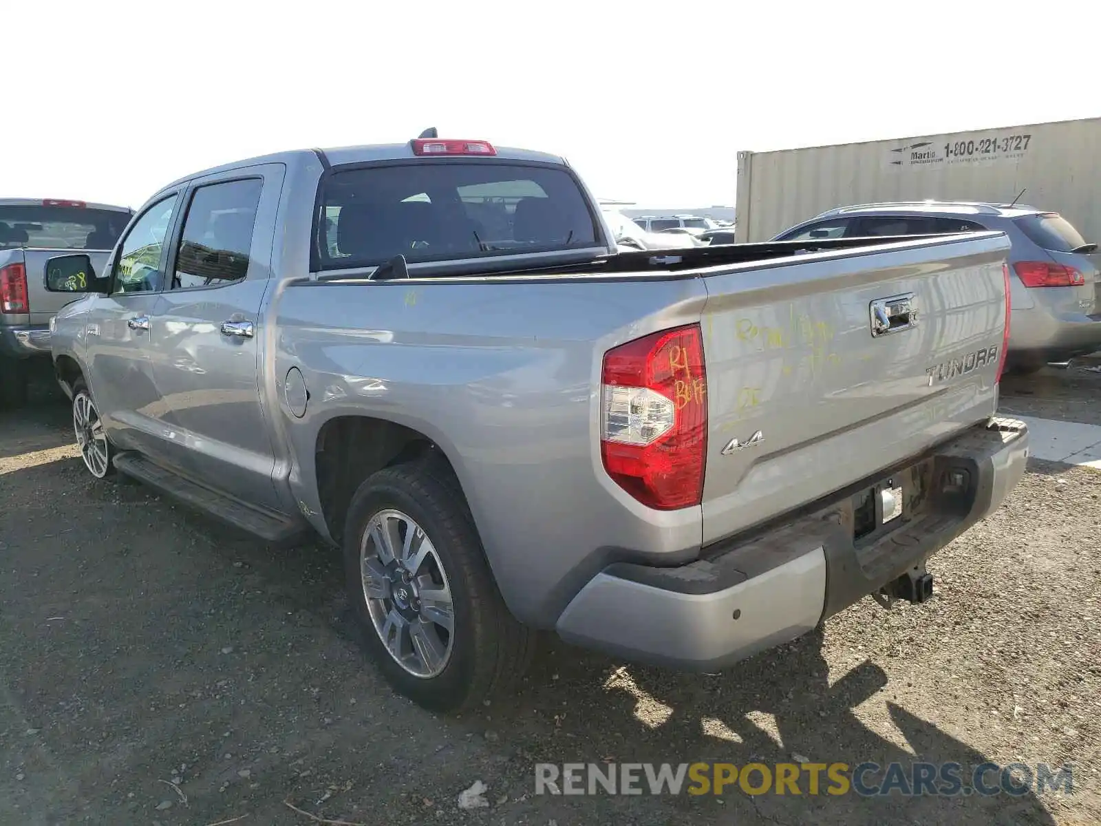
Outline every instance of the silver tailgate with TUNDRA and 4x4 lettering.
{"label": "silver tailgate with TUNDRA and 4x4 lettering", "polygon": [[[704,543],[873,476],[992,415],[1005,236],[707,278]],[[873,336],[873,305],[908,301]],[[907,324],[907,322],[909,322]]]}

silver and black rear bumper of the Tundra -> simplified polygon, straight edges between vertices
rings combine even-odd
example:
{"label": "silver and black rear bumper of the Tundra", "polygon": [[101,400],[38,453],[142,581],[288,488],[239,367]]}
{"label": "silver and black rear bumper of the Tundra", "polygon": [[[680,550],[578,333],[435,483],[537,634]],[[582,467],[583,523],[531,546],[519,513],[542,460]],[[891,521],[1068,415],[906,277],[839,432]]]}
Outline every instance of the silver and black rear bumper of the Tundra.
{"label": "silver and black rear bumper of the Tundra", "polygon": [[[556,630],[568,642],[639,662],[728,666],[810,631],[923,563],[1002,504],[1027,457],[1024,423],[991,420],[811,512],[708,548],[705,559],[672,568],[611,565],[578,593]],[[945,487],[960,478],[949,471],[962,471],[964,483]],[[906,521],[854,543],[851,493],[887,476],[902,480]]]}

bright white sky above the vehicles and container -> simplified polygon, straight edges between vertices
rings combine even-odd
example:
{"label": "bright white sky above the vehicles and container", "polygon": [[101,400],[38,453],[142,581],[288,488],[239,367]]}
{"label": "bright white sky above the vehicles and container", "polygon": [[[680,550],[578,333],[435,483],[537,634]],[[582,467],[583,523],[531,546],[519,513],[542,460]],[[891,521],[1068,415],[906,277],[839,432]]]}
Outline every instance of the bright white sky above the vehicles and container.
{"label": "bright white sky above the vehicles and container", "polygon": [[738,150],[1099,116],[1099,22],[1005,0],[11,2],[0,197],[139,206],[228,161],[435,126],[563,154],[599,197],[733,204]]}

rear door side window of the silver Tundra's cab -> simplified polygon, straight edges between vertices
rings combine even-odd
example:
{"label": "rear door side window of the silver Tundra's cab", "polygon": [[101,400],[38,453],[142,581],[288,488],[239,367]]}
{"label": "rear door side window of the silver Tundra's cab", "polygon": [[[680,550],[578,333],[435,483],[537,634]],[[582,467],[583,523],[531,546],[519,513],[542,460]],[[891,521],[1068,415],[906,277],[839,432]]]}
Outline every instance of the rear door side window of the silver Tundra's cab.
{"label": "rear door side window of the silver Tundra's cab", "polygon": [[244,279],[263,185],[260,178],[249,178],[195,191],[179,239],[173,290],[221,286]]}

